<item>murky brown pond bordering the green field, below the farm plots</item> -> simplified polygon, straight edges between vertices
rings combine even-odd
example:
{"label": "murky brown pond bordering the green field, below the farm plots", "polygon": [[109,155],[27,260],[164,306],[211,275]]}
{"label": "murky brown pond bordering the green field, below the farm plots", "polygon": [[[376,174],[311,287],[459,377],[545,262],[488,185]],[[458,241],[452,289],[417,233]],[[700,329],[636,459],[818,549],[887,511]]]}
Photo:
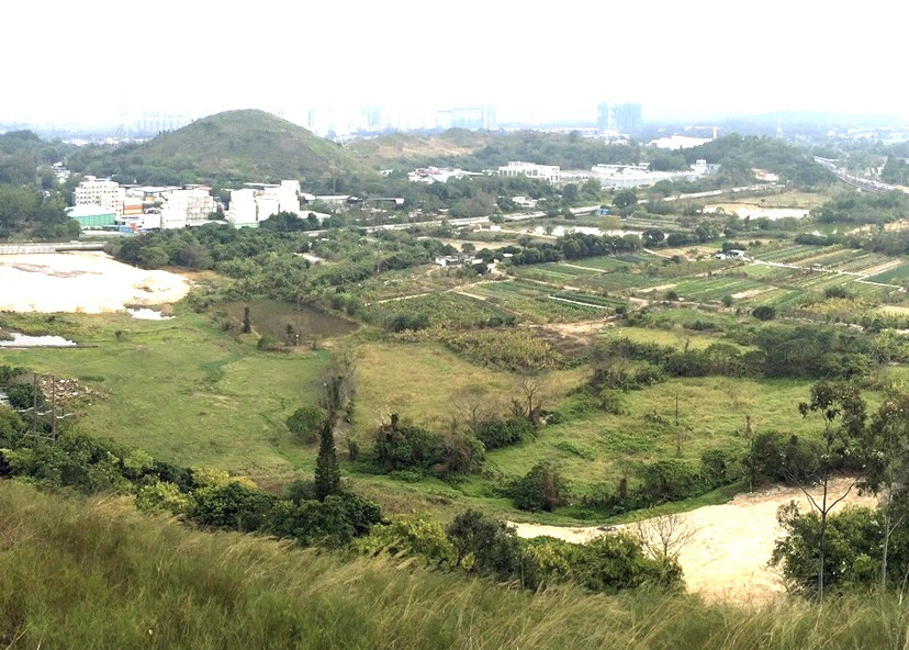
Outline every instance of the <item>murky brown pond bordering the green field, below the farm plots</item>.
{"label": "murky brown pond bordering the green field, below the farm plots", "polygon": [[313,337],[330,338],[350,334],[359,325],[345,321],[332,314],[325,314],[314,307],[296,305],[280,300],[259,300],[254,302],[228,302],[216,305],[216,311],[226,312],[233,325],[243,325],[243,312],[249,307],[249,320],[252,329],[259,334],[270,334],[279,339],[288,336],[288,325],[300,335],[300,340],[312,340]]}

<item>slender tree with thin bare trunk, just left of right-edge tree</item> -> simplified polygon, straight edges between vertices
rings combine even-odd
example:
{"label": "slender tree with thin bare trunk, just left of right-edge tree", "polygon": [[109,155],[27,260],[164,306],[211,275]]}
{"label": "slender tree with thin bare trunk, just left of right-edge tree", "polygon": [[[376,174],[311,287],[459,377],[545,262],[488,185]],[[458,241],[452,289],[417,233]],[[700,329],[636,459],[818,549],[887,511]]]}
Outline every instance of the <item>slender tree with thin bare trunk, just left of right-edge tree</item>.
{"label": "slender tree with thin bare trunk, just left of right-edge tree", "polygon": [[[839,464],[838,461],[856,451],[856,442],[865,428],[865,402],[862,393],[854,385],[819,381],[811,386],[810,401],[801,402],[798,405],[798,412],[803,417],[807,417],[810,413],[818,413],[823,419],[818,470],[810,479],[810,483],[821,489],[820,501],[811,495],[805,482],[795,480],[811,507],[818,513],[817,595],[818,599],[823,599],[827,519],[830,511],[849,496],[856,483],[852,481],[845,492],[834,497],[830,494],[830,478]],[[837,424],[838,419],[839,424]]]}

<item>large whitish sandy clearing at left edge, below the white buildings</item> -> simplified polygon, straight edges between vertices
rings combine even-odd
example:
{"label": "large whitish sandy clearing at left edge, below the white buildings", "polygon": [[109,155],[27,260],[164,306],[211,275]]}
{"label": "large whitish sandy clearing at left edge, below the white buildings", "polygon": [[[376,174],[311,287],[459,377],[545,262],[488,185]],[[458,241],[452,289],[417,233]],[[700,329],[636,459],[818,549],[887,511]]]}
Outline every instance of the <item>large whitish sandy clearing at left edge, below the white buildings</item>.
{"label": "large whitish sandy clearing at left edge, below the white buildings", "polygon": [[137,269],[104,253],[0,256],[0,311],[98,314],[176,302],[189,290],[182,276]]}

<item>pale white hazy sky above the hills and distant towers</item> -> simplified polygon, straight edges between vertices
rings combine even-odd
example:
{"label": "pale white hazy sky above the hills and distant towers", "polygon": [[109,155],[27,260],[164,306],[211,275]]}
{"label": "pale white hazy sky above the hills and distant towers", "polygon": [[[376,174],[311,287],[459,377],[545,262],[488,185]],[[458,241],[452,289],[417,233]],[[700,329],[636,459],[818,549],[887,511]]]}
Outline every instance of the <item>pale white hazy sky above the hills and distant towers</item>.
{"label": "pale white hazy sky above the hills and distant towers", "polygon": [[0,15],[0,120],[456,103],[593,120],[605,100],[646,120],[909,117],[896,1],[14,0]]}

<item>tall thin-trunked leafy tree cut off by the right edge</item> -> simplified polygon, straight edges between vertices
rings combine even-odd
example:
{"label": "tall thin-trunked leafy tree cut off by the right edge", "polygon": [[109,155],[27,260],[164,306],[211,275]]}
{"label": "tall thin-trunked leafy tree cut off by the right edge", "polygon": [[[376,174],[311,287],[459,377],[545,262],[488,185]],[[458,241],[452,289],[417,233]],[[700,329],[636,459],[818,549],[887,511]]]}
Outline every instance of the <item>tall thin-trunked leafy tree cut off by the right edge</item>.
{"label": "tall thin-trunked leafy tree cut off by the right edge", "polygon": [[864,448],[867,463],[861,486],[877,496],[883,518],[883,590],[887,586],[890,536],[909,515],[909,394],[887,396],[872,418]]}

